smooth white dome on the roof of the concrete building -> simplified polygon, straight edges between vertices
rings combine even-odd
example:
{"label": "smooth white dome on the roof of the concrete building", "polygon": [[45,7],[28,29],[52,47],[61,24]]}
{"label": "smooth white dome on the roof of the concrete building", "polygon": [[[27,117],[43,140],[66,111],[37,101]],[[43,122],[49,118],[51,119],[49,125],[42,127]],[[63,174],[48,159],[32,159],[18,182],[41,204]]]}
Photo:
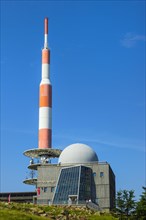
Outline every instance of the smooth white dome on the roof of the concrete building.
{"label": "smooth white dome on the roof of the concrete building", "polygon": [[93,163],[97,162],[98,157],[91,147],[86,144],[71,144],[60,154],[58,163]]}

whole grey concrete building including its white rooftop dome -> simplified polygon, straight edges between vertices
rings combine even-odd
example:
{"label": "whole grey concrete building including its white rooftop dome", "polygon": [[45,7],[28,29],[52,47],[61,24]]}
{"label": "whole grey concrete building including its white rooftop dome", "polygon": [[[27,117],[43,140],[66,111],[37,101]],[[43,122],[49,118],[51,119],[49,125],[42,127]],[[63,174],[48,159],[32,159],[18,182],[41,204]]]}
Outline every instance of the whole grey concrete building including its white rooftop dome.
{"label": "whole grey concrete building including its white rooftop dome", "polygon": [[37,204],[76,204],[87,201],[100,209],[111,210],[115,200],[115,175],[107,162],[99,162],[96,153],[85,144],[72,144],[60,154],[57,164],[50,161],[33,163],[37,179],[25,183],[35,184]]}

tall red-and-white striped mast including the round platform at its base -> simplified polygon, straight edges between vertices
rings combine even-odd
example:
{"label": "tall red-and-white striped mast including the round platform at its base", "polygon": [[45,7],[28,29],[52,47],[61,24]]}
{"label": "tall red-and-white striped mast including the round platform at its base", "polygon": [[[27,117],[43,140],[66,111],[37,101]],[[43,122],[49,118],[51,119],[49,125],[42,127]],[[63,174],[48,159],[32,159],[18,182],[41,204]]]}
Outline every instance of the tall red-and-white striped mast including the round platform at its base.
{"label": "tall red-and-white striped mast including the round platform at its base", "polygon": [[[52,85],[50,82],[50,49],[48,47],[48,18],[44,20],[44,48],[42,49],[42,79],[39,92],[39,132],[38,148],[24,151],[24,155],[31,158],[29,168],[37,167],[34,158],[40,163],[51,162],[51,158],[58,158],[60,149],[52,148]],[[29,181],[24,181],[28,183]]]}

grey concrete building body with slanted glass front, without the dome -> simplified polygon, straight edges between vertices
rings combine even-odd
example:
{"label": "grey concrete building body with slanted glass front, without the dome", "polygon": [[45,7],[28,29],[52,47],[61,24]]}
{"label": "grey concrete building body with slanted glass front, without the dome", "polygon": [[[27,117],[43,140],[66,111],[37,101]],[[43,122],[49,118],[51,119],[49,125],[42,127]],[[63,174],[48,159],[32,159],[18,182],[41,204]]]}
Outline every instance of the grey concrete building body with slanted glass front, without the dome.
{"label": "grey concrete building body with slanted glass front, without the dome", "polygon": [[44,164],[38,167],[38,204],[86,204],[92,201],[111,210],[115,175],[107,162],[82,165]]}

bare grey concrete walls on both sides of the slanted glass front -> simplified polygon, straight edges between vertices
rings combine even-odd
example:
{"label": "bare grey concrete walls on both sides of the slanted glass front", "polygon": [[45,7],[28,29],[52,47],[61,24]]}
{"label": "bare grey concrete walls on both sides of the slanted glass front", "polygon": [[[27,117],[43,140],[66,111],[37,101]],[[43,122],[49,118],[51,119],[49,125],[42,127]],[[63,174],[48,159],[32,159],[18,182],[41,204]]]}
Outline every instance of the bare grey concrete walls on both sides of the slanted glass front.
{"label": "bare grey concrete walls on both sides of the slanted glass front", "polygon": [[[112,209],[115,200],[115,176],[108,163],[82,164],[91,167],[93,171],[92,198],[101,208]],[[46,164],[38,167],[37,187],[40,187],[40,195],[37,196],[39,204],[51,204],[60,170],[67,165]],[[53,188],[54,187],[54,188]]]}

